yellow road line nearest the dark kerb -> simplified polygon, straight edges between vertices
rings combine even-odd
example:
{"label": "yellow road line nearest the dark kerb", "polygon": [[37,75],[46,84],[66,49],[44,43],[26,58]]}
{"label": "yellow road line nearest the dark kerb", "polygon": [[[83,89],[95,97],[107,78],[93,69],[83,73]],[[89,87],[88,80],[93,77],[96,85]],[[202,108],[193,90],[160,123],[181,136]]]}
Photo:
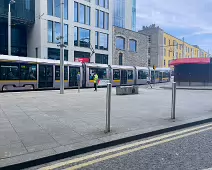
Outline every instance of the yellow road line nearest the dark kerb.
{"label": "yellow road line nearest the dark kerb", "polygon": [[138,145],[154,142],[154,141],[157,141],[157,140],[162,140],[162,139],[165,139],[165,138],[168,138],[168,137],[172,137],[172,136],[176,136],[176,135],[180,135],[180,134],[183,134],[183,133],[199,130],[199,129],[206,128],[206,127],[209,127],[209,126],[212,126],[212,123],[211,124],[202,125],[202,126],[198,126],[198,127],[194,127],[194,128],[185,129],[185,130],[182,130],[182,131],[179,131],[179,132],[175,132],[175,133],[171,133],[171,134],[168,134],[168,135],[155,137],[155,138],[148,139],[148,140],[135,142],[135,143],[124,145],[124,146],[120,146],[120,147],[117,147],[117,148],[114,148],[114,149],[108,149],[106,151],[94,153],[94,154],[87,155],[87,156],[80,157],[80,158],[75,158],[75,159],[72,159],[72,160],[69,160],[69,161],[60,162],[60,163],[57,163],[57,164],[54,164],[54,165],[43,167],[40,170],[56,169],[56,168],[59,168],[59,167],[62,167],[62,166],[66,166],[66,165],[69,165],[69,164],[77,163],[77,162],[84,161],[84,160],[87,160],[87,159],[92,159],[92,158],[95,158],[95,157],[98,157],[98,156],[106,155],[106,154],[109,154],[109,153],[112,153],[112,152],[117,152],[117,151],[124,150],[124,149],[128,149],[128,148],[135,147],[135,146],[138,146]]}

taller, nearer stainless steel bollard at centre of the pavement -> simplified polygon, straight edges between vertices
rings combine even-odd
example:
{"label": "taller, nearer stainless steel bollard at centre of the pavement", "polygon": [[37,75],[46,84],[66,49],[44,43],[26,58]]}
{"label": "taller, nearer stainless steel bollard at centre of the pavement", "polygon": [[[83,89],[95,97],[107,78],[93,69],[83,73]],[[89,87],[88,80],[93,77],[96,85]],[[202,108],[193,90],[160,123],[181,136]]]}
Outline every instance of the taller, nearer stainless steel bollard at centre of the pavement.
{"label": "taller, nearer stainless steel bollard at centre of the pavement", "polygon": [[105,133],[110,132],[110,112],[111,112],[111,89],[112,84],[107,84],[107,95],[106,95],[106,129]]}

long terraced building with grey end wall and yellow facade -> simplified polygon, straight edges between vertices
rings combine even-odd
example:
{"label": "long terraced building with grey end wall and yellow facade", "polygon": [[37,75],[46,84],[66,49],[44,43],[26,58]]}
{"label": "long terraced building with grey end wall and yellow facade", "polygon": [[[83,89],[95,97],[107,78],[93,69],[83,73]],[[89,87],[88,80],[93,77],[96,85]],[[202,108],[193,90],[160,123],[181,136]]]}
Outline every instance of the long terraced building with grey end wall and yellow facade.
{"label": "long terraced building with grey end wall and yellow facade", "polygon": [[197,45],[191,45],[182,39],[166,33],[163,29],[154,24],[149,27],[144,26],[139,30],[149,36],[150,66],[169,67],[169,63],[179,58],[207,58],[208,52],[199,48]]}

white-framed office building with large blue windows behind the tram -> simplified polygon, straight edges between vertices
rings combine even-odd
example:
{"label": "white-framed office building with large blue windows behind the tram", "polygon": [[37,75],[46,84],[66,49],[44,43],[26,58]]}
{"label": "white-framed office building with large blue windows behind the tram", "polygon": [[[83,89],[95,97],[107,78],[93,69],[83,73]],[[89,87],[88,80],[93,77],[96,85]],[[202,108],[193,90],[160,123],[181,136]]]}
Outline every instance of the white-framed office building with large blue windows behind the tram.
{"label": "white-framed office building with large blue windows behind the tram", "polygon": [[[64,58],[112,63],[111,0],[64,0]],[[28,56],[60,59],[60,0],[36,0]]]}

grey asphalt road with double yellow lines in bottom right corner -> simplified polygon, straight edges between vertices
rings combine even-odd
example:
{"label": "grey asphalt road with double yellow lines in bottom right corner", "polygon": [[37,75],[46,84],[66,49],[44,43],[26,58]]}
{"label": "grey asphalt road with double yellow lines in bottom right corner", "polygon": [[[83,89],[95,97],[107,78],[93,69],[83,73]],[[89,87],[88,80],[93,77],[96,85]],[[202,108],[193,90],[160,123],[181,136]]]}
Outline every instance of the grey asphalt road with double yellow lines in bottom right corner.
{"label": "grey asphalt road with double yellow lines in bottom right corner", "polygon": [[66,159],[43,169],[203,170],[212,167],[212,123]]}

